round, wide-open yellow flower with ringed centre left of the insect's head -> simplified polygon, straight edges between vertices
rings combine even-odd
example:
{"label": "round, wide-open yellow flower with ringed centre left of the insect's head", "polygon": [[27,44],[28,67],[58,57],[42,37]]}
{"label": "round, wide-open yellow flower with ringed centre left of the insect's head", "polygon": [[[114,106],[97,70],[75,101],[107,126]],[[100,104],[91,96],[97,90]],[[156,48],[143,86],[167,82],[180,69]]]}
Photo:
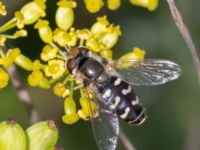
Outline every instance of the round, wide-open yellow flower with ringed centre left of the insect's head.
{"label": "round, wide-open yellow flower with ringed centre left of the insect's head", "polygon": [[53,79],[60,78],[65,71],[64,61],[57,59],[49,60],[48,66],[45,68],[46,76],[52,77]]}

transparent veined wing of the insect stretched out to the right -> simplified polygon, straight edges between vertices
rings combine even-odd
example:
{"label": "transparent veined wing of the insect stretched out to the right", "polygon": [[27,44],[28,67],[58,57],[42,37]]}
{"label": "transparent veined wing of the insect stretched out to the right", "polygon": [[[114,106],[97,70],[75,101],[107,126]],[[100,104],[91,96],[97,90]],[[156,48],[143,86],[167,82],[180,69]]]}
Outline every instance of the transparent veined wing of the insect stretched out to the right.
{"label": "transparent veined wing of the insect stretched out to the right", "polygon": [[169,60],[111,60],[107,63],[122,79],[134,85],[164,84],[181,74],[180,66]]}

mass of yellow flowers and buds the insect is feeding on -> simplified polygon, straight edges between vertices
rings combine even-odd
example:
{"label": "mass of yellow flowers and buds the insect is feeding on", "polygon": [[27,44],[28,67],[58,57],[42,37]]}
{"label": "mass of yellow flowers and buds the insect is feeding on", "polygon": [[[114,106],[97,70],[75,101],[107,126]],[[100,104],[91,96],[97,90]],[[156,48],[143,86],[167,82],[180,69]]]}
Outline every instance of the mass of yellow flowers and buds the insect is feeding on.
{"label": "mass of yellow flowers and buds the insect is feeding on", "polygon": [[[149,2],[151,1],[151,2]],[[103,0],[84,0],[86,8],[91,12],[97,12],[103,6]],[[148,9],[155,9],[156,1],[139,0],[131,1],[135,5]],[[117,9],[120,0],[107,0],[108,8]],[[45,0],[33,0],[25,4],[15,13],[15,17],[6,24],[0,26],[0,46],[4,46],[7,39],[16,39],[27,36],[24,30],[25,25],[33,25],[38,31],[40,39],[44,42],[40,59],[30,60],[21,54],[19,48],[9,49],[7,52],[0,50],[0,88],[8,84],[8,74],[5,68],[13,63],[30,71],[28,83],[30,86],[37,86],[45,89],[53,87],[53,92],[64,100],[64,115],[62,120],[66,124],[73,124],[80,118],[88,120],[98,115],[97,105],[91,101],[92,93],[86,93],[81,87],[80,81],[69,74],[65,68],[66,49],[74,46],[86,46],[90,51],[105,59],[112,59],[112,48],[116,45],[121,30],[118,25],[110,23],[106,16],[98,17],[90,29],[75,29],[74,11],[77,3],[73,0],[59,0],[55,12],[56,28],[53,29],[48,20],[42,19],[46,15]],[[151,6],[149,6],[151,5]],[[154,6],[154,7],[153,7]],[[0,11],[1,11],[0,3]],[[4,34],[5,31],[17,27],[13,35]],[[139,48],[125,54],[120,59],[144,59],[145,52]],[[74,89],[79,88],[81,95],[78,107],[74,99]],[[77,88],[78,89],[78,88]],[[91,92],[91,91],[90,91]]]}

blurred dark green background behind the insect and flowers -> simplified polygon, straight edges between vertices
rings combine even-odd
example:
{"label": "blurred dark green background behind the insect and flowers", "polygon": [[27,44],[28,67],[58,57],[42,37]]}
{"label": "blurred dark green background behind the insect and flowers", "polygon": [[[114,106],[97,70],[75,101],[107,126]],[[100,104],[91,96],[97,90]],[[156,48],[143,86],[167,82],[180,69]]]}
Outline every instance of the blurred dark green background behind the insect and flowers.
{"label": "blurred dark green background behind the insect and flowers", "polygon": [[[4,0],[8,7],[8,17],[0,18],[2,24],[18,10],[25,1]],[[56,1],[47,1],[47,19],[55,27],[54,13]],[[200,1],[177,0],[185,22],[188,25],[197,48],[200,46]],[[146,58],[163,58],[177,62],[182,67],[182,76],[161,86],[135,86],[137,95],[147,110],[148,119],[138,127],[120,122],[124,132],[138,150],[199,150],[200,149],[200,86],[188,49],[180,36],[166,1],[160,1],[155,12],[122,1],[116,11],[106,6],[97,14],[86,11],[82,1],[75,9],[76,28],[89,28],[97,16],[107,14],[110,22],[119,24],[122,36],[114,47],[114,57],[118,58],[134,46],[146,50]],[[44,45],[33,27],[27,38],[10,41],[12,47],[18,46],[32,59],[38,58]],[[199,48],[200,49],[200,48]],[[199,66],[200,67],[200,66]],[[59,126],[58,145],[65,150],[96,150],[90,122],[79,121],[69,126],[61,122],[63,100],[53,95],[51,90],[30,88],[27,85],[27,72],[19,69],[31,98],[42,119],[53,119]],[[14,118],[24,128],[28,116],[17,98],[11,84],[0,91],[0,121]],[[120,144],[118,150],[124,150]]]}

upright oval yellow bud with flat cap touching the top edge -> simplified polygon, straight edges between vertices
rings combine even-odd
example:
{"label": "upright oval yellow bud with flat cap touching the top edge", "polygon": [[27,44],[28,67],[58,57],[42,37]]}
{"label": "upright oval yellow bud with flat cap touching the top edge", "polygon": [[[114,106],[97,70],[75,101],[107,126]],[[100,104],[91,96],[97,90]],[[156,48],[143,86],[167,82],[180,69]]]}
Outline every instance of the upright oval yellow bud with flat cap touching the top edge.
{"label": "upright oval yellow bud with flat cap touching the top edge", "polygon": [[75,1],[60,0],[56,10],[56,24],[60,29],[68,30],[74,22],[73,9],[76,7]]}

